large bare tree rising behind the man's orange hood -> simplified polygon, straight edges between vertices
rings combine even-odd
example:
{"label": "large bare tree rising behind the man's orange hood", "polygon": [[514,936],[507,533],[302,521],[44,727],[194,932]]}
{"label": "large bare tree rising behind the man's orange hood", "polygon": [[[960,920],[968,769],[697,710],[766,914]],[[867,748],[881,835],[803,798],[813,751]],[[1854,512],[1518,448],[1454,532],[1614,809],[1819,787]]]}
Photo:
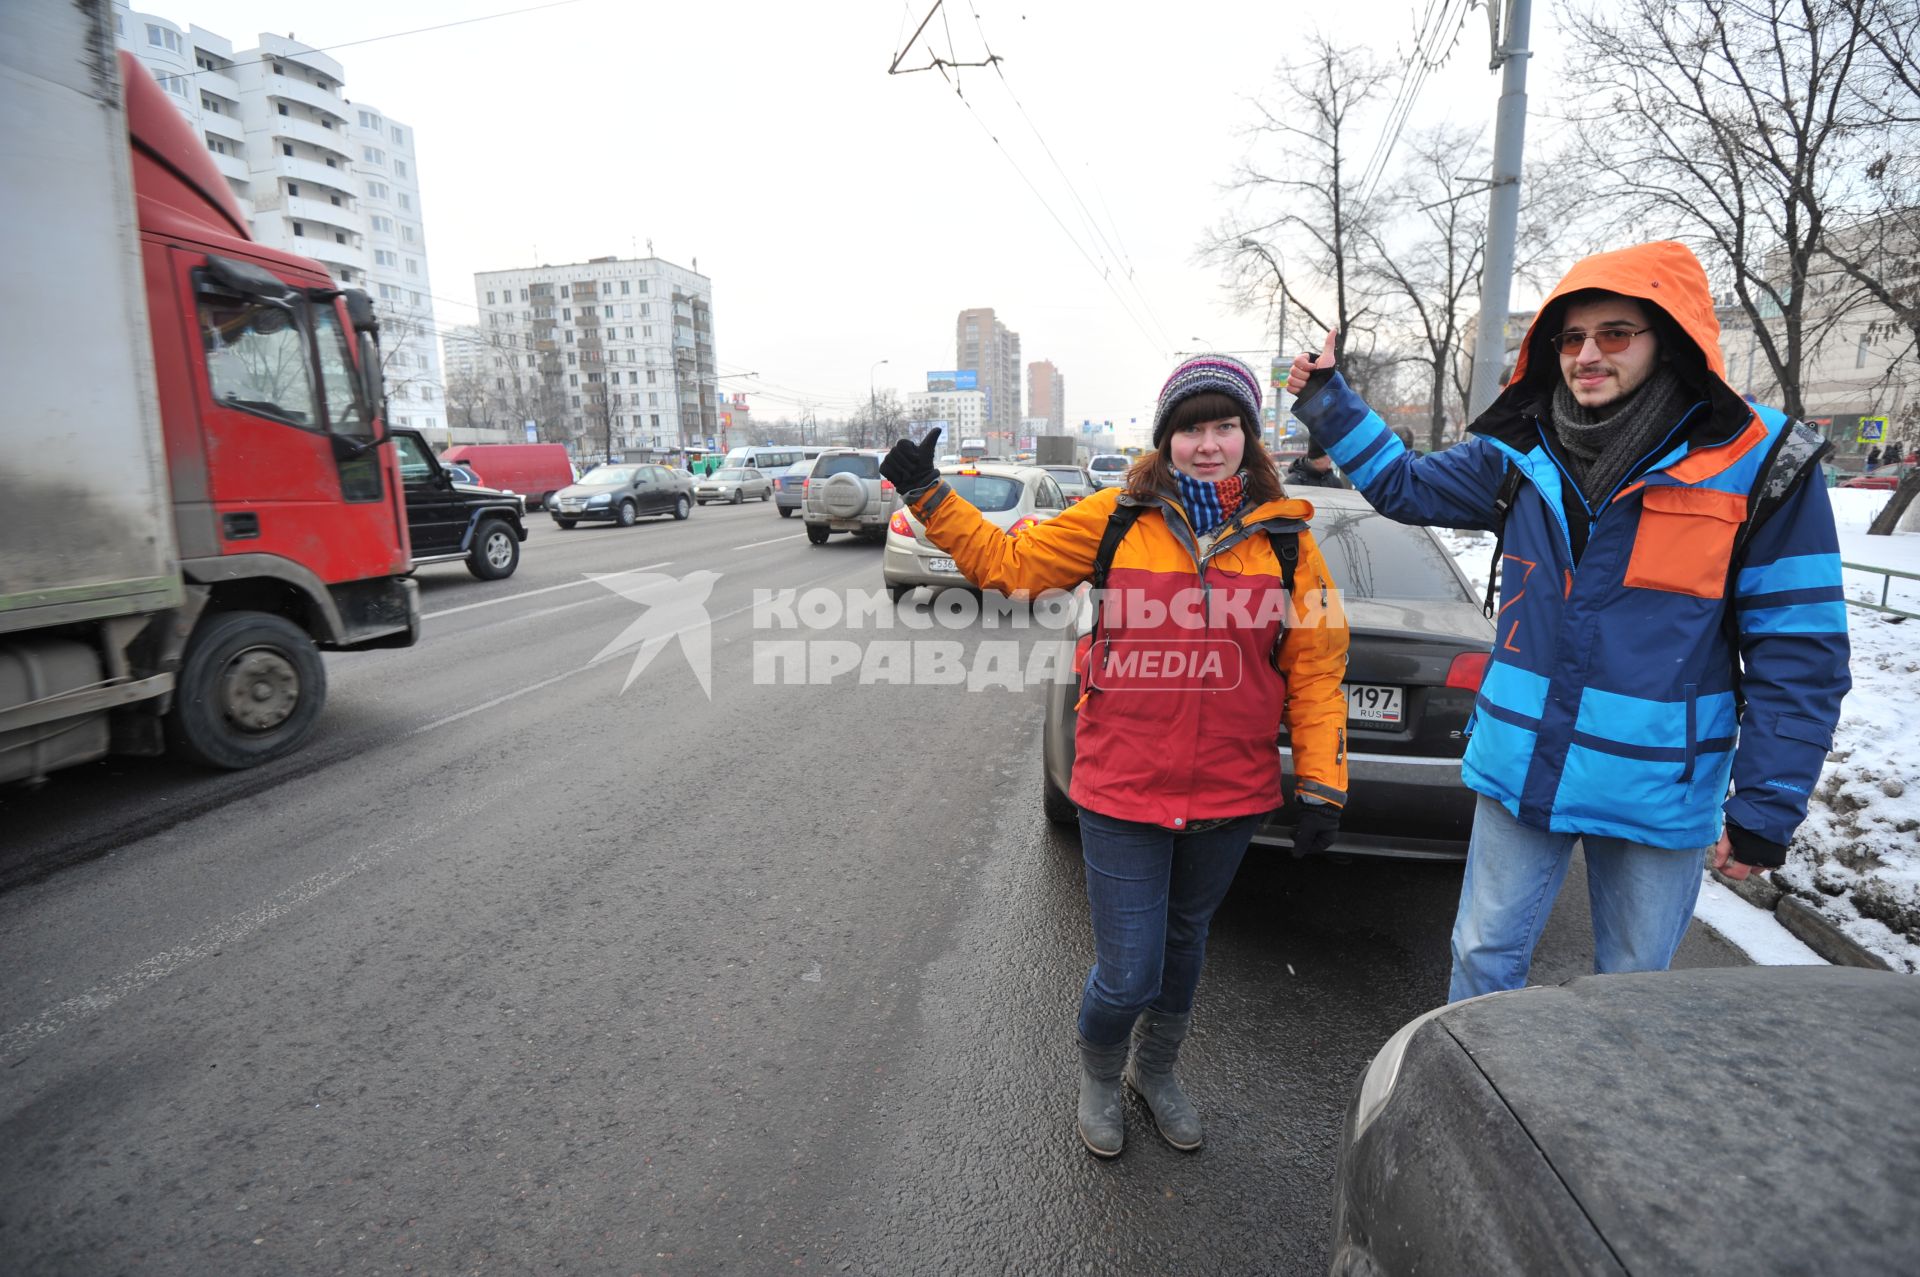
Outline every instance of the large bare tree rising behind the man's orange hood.
{"label": "large bare tree rising behind the man's orange hood", "polygon": [[1809,290],[1870,129],[1860,0],[1563,0],[1574,125],[1622,219],[1672,230],[1753,321],[1782,407],[1841,317]]}

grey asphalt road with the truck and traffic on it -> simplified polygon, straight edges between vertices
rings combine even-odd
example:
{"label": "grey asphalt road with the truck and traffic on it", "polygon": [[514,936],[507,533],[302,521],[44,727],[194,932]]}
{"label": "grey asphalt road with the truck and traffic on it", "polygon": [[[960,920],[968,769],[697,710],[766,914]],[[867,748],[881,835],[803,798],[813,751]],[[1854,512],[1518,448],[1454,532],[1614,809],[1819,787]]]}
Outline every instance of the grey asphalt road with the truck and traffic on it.
{"label": "grey asphalt road with the truck and traffic on it", "polygon": [[[879,588],[770,505],[532,526],[511,580],[422,568],[419,647],[328,657],[298,757],[0,793],[0,1267],[1325,1271],[1342,1112],[1444,997],[1457,870],[1250,856],[1185,1056],[1206,1148],[1137,1110],[1094,1162],[1039,693],[755,664],[1046,632],[756,624],[755,590]],[[718,574],[710,697],[697,643],[595,663],[697,614],[589,576],[634,568]],[[1584,928],[1572,887],[1536,979]]]}

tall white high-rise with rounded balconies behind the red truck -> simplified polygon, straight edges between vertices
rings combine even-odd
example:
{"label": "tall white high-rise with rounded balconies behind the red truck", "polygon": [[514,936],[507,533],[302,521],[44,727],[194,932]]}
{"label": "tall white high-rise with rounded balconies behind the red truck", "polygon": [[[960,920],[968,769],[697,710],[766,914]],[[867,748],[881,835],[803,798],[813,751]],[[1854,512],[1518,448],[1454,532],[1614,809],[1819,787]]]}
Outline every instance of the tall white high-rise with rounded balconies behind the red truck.
{"label": "tall white high-rise with rounded balconies behind the red truck", "polygon": [[115,4],[121,46],[173,94],[253,238],[365,288],[380,315],[388,419],[447,442],[413,129],[344,96],[344,67],[294,38],[259,46]]}

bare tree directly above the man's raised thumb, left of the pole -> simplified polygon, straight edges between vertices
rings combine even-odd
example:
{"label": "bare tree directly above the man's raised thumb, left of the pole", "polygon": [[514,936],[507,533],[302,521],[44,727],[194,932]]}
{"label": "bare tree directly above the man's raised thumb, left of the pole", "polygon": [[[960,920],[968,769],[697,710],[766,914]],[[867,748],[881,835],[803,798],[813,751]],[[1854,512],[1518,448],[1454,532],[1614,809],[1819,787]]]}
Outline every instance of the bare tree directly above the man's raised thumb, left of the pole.
{"label": "bare tree directly above the man's raised thumb, left of the pole", "polygon": [[1363,48],[1309,36],[1306,54],[1275,75],[1271,100],[1254,102],[1254,152],[1229,182],[1244,198],[1244,215],[1223,221],[1200,246],[1202,259],[1225,267],[1242,303],[1290,307],[1323,332],[1338,328],[1348,376],[1359,374],[1348,342],[1375,319],[1356,265],[1369,217],[1379,217],[1361,209],[1359,146],[1371,136],[1361,121],[1390,81],[1392,69]]}

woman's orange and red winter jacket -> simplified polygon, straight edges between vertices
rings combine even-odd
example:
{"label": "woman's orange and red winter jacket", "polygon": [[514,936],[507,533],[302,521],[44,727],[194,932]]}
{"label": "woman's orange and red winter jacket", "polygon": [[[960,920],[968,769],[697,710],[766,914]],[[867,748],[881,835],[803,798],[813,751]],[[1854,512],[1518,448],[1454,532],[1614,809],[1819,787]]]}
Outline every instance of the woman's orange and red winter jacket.
{"label": "woman's orange and red winter jacket", "polygon": [[[1121,490],[1008,536],[947,484],[914,501],[981,590],[1037,595],[1092,574]],[[1127,497],[1131,499],[1131,497]],[[1202,549],[1171,497],[1142,501],[1106,580],[1073,730],[1077,807],[1183,830],[1281,805],[1284,722],[1302,793],[1346,805],[1346,614],[1298,499],[1242,509]],[[1267,532],[1298,532],[1294,599]]]}

